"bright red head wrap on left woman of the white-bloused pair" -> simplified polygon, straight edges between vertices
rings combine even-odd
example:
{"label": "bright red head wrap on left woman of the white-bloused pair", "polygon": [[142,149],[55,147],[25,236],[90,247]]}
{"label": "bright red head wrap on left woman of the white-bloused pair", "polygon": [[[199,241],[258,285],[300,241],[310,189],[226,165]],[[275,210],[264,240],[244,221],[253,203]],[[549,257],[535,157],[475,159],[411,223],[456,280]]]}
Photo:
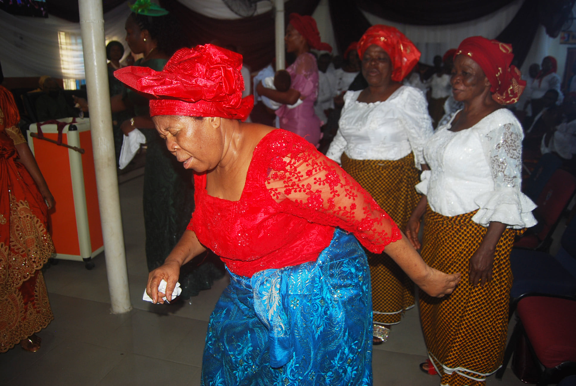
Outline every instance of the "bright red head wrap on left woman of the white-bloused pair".
{"label": "bright red head wrap on left woman of the white-bloused pair", "polygon": [[376,24],[366,29],[358,42],[358,55],[364,56],[372,44],[382,47],[392,61],[392,80],[399,82],[412,71],[420,59],[420,51],[404,33],[388,25]]}

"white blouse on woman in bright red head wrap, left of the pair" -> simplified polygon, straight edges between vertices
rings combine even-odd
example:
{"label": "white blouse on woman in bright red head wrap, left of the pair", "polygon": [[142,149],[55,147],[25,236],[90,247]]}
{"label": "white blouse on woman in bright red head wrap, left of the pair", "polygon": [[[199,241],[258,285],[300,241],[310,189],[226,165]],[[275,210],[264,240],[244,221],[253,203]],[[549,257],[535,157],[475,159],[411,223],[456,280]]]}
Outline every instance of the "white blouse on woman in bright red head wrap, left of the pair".
{"label": "white blouse on woman in bright red head wrap, left of the pair", "polygon": [[432,122],[422,91],[401,86],[384,102],[358,102],[361,91],[344,94],[338,133],[326,156],[340,163],[352,159],[399,160],[414,153],[415,166],[425,163],[422,148],[432,136]]}

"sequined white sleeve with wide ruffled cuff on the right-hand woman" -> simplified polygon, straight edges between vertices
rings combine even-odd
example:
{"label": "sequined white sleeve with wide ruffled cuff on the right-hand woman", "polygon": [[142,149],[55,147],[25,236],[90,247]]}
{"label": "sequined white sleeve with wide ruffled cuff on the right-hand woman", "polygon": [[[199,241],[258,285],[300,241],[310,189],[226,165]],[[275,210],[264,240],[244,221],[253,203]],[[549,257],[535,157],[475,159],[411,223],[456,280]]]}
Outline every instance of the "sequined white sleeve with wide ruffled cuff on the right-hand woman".
{"label": "sequined white sleeve with wide ruffled cuff on the right-hand woman", "polygon": [[472,220],[483,226],[493,221],[516,229],[534,226],[532,210],[536,205],[520,190],[524,137],[520,123],[516,118],[507,119],[509,111],[492,114],[495,119],[487,120],[488,127],[480,133],[480,141],[490,165],[494,190],[474,199],[480,208]]}

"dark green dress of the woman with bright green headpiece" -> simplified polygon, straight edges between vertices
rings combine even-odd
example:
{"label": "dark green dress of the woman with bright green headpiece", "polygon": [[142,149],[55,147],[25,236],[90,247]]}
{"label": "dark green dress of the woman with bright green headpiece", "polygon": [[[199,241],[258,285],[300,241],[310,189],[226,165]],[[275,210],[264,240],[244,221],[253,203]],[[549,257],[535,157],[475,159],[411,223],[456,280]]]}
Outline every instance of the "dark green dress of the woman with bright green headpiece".
{"label": "dark green dress of the woman with bright green headpiece", "polygon": [[[161,71],[165,59],[139,59],[135,66],[146,66]],[[127,89],[126,96],[134,105],[136,116],[149,116],[148,99]],[[155,129],[139,129],[146,136],[146,163],[144,167],[144,225],[146,228],[146,261],[149,271],[160,267],[166,256],[190,222],[194,211],[194,180],[166,148]],[[181,296],[189,298],[200,290],[210,288],[214,279],[224,272],[211,261],[198,265],[194,260],[181,269]]]}

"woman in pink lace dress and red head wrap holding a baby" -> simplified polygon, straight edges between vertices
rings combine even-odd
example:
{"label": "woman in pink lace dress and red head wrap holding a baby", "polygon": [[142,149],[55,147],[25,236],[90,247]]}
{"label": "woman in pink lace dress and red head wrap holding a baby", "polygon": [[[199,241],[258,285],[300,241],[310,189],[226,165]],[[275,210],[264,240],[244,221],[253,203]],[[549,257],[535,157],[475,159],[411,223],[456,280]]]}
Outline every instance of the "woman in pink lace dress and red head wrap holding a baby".
{"label": "woman in pink lace dress and red head wrap holding a baby", "polygon": [[[282,92],[257,85],[256,91],[283,106],[276,110],[280,118],[280,128],[298,134],[309,143],[317,145],[320,142],[320,119],[314,113],[314,102],[318,96],[318,66],[316,58],[310,54],[310,48],[320,51],[332,51],[332,47],[320,41],[320,32],[316,21],[310,16],[290,14],[290,23],[286,28],[284,38],[286,51],[297,55],[287,72],[290,73],[292,84],[288,91]],[[290,108],[302,100],[297,107]]]}

